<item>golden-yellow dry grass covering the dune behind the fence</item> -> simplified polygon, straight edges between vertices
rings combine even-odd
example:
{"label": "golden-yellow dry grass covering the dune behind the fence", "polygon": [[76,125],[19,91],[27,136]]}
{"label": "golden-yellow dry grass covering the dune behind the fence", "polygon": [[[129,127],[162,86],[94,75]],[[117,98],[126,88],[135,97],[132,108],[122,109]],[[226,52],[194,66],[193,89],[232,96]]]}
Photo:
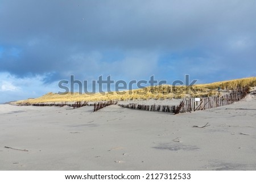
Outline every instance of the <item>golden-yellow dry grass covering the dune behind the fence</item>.
{"label": "golden-yellow dry grass covering the dune behind the fence", "polygon": [[[154,87],[146,87],[143,89],[122,91],[122,94],[117,92],[97,93],[93,95],[79,94],[68,92],[67,94],[53,94],[49,92],[46,95],[36,99],[27,99],[17,101],[16,104],[33,104],[33,103],[48,103],[48,102],[64,102],[64,101],[105,101],[105,100],[136,100],[136,99],[180,99],[189,97],[207,97],[218,94],[218,87],[221,90],[229,91],[237,87],[256,86],[256,77],[235,79],[232,81],[214,82],[209,84],[197,84],[191,88],[185,86],[162,85]],[[192,92],[191,90],[195,92]]]}

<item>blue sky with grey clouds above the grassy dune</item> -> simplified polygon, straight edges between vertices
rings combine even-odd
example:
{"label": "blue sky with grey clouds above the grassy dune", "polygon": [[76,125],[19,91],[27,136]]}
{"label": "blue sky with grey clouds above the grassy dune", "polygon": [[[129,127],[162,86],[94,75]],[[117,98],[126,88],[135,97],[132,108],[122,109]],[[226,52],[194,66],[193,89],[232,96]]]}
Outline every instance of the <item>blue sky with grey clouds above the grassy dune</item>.
{"label": "blue sky with grey clouds above the grassy dune", "polygon": [[256,1],[0,0],[0,103],[81,81],[256,76]]}

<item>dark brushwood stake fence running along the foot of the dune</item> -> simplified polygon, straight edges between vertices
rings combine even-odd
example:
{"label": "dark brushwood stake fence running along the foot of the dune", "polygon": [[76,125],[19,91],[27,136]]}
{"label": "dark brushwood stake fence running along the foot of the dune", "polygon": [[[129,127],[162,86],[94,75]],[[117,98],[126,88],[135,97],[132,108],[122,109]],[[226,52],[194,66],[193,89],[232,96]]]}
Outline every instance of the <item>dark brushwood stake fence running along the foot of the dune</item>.
{"label": "dark brushwood stake fence running along the foot of the dune", "polygon": [[233,91],[230,94],[222,95],[222,96],[210,96],[207,98],[202,98],[200,101],[195,101],[195,98],[183,99],[179,105],[146,105],[146,104],[118,104],[118,101],[109,100],[109,101],[101,101],[94,104],[89,104],[88,101],[76,101],[75,103],[37,103],[37,104],[20,104],[20,105],[34,105],[34,106],[57,106],[63,107],[65,105],[69,107],[80,108],[86,105],[93,106],[93,112],[96,112],[104,107],[109,105],[118,104],[123,108],[130,109],[138,109],[143,111],[155,111],[155,112],[168,112],[168,113],[184,113],[184,112],[192,112],[199,111],[204,109],[212,109],[216,107],[221,107],[224,105],[232,104],[236,101],[240,101],[245,98],[245,96],[249,93],[249,87],[240,87],[237,88],[236,91]]}

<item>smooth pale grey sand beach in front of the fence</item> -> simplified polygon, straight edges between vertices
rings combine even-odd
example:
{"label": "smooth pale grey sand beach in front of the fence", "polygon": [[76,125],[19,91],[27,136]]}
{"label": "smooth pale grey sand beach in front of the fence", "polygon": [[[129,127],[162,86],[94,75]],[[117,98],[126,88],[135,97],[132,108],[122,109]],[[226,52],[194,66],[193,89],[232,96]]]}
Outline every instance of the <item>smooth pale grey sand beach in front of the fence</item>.
{"label": "smooth pale grey sand beach in front of the fence", "polygon": [[92,111],[0,105],[0,170],[256,170],[253,95],[179,115]]}

